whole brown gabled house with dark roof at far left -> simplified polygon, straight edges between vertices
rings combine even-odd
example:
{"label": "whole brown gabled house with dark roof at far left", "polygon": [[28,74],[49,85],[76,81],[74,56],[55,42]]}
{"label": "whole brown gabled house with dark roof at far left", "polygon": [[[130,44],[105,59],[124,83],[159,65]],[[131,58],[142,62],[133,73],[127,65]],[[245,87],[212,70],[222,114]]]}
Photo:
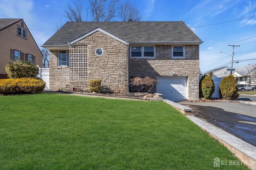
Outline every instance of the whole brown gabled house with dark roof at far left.
{"label": "whole brown gabled house with dark roof at far left", "polygon": [[42,67],[42,53],[22,19],[0,19],[0,78],[8,78],[5,67],[17,60]]}

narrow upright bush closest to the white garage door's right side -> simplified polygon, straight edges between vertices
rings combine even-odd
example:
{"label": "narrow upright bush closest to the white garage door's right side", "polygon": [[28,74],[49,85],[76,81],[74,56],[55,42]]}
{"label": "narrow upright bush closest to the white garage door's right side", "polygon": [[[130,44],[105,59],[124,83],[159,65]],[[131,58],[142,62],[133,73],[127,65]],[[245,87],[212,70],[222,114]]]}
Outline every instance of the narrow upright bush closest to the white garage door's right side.
{"label": "narrow upright bush closest to the white garage door's right side", "polygon": [[212,94],[214,93],[214,88],[215,88],[212,77],[209,75],[206,75],[201,80],[202,80],[201,88],[202,88],[203,98],[210,99]]}

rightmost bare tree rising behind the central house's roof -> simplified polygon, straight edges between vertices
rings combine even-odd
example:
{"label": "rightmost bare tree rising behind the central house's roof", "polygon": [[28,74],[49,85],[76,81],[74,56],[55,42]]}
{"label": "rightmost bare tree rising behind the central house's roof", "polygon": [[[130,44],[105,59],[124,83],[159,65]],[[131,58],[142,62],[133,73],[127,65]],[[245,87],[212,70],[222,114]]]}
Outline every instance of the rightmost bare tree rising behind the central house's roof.
{"label": "rightmost bare tree rising behind the central house's roof", "polygon": [[129,0],[120,3],[120,8],[118,10],[118,17],[121,18],[122,21],[140,21],[140,11],[137,10],[136,6],[132,5]]}

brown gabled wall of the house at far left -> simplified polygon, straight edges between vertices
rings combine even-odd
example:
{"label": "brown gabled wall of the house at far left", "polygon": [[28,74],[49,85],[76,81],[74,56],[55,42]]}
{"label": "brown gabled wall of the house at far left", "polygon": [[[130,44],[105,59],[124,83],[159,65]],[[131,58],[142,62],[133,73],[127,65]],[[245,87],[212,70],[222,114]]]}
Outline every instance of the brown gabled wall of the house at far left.
{"label": "brown gabled wall of the house at far left", "polygon": [[[0,74],[5,75],[5,66],[11,60],[11,49],[22,53],[27,53],[36,57],[36,65],[42,67],[42,53],[36,45],[32,35],[24,23],[24,29],[27,30],[27,39],[17,35],[17,25],[21,26],[21,21],[0,31]],[[14,61],[12,61],[14,62]]]}

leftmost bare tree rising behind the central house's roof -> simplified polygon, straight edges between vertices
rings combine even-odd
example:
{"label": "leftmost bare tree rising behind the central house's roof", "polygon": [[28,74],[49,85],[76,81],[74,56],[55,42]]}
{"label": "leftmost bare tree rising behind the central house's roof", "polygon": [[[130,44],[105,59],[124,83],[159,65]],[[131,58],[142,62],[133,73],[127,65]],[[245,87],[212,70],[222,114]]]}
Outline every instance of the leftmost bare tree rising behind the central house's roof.
{"label": "leftmost bare tree rising behind the central house's roof", "polygon": [[83,1],[82,0],[76,0],[74,2],[74,8],[70,4],[66,6],[64,9],[64,12],[66,14],[66,18],[70,21],[77,21],[81,22],[82,21],[82,13],[83,13]]}

